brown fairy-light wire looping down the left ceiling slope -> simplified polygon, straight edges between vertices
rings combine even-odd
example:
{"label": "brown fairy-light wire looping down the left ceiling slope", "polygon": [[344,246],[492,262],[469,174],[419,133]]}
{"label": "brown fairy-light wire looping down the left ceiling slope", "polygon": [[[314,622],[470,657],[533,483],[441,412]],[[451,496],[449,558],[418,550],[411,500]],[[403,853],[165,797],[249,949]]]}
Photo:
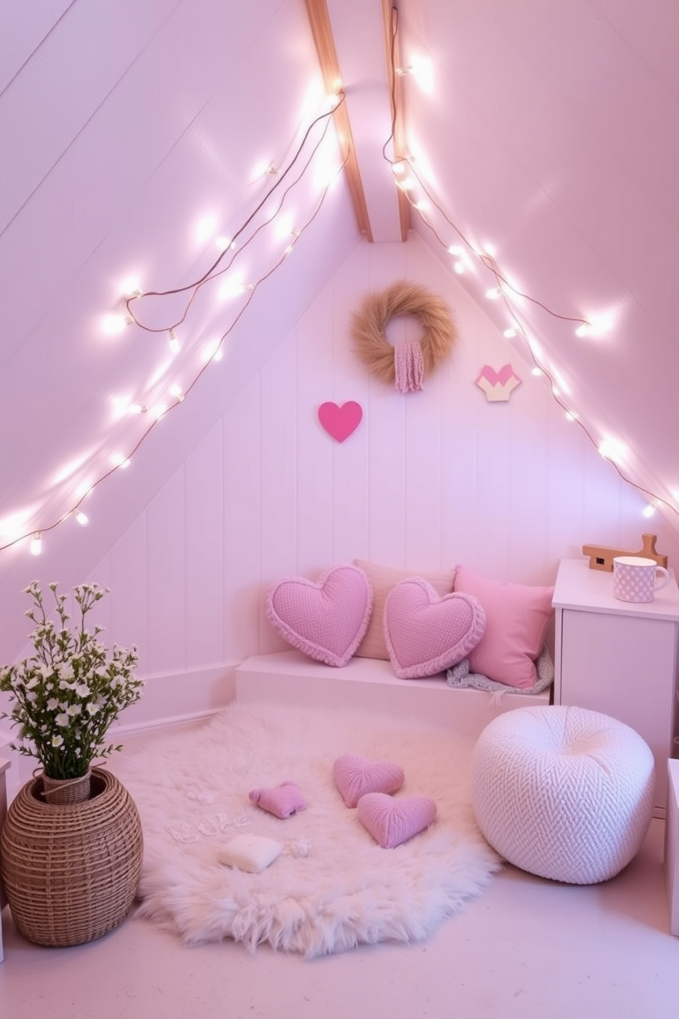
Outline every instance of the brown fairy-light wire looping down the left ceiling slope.
{"label": "brown fairy-light wire looping down the left ceiling slope", "polygon": [[[278,176],[278,179],[276,180],[276,182],[267,191],[267,194],[258,203],[258,205],[254,208],[254,210],[247,216],[247,218],[244,220],[244,222],[242,223],[242,225],[238,228],[238,230],[236,231],[236,233],[234,234],[234,236],[232,238],[231,244],[233,244],[233,242],[235,242],[236,237],[241,236],[243,234],[243,232],[249,226],[249,224],[252,222],[252,220],[254,219],[254,217],[257,216],[257,214],[270,201],[271,197],[280,189],[280,186],[283,183],[283,181],[290,174],[290,172],[292,171],[292,169],[294,168],[294,166],[297,164],[297,162],[301,158],[302,151],[304,150],[304,148],[306,146],[306,143],[307,143],[307,141],[308,141],[308,139],[310,137],[310,133],[312,133],[313,129],[320,122],[325,122],[324,123],[324,129],[323,129],[323,131],[321,133],[321,137],[314,144],[314,146],[312,147],[312,151],[308,154],[308,156],[306,157],[305,162],[302,164],[301,169],[299,170],[299,172],[297,173],[297,175],[292,179],[292,181],[288,184],[288,186],[283,190],[283,192],[282,192],[282,194],[280,196],[279,204],[278,204],[275,212],[273,212],[272,215],[270,215],[267,220],[265,220],[263,223],[261,223],[257,227],[257,229],[250,234],[250,236],[247,238],[247,240],[244,244],[242,244],[236,250],[235,254],[233,255],[233,257],[231,258],[231,260],[229,261],[229,263],[226,266],[222,267],[219,270],[219,272],[215,271],[218,268],[218,266],[221,264],[222,260],[224,259],[224,256],[227,254],[227,252],[228,252],[229,249],[226,249],[224,252],[222,252],[220,254],[220,256],[217,259],[215,259],[215,261],[212,263],[212,265],[210,266],[210,268],[199,279],[194,280],[192,283],[187,283],[184,286],[174,287],[174,288],[167,289],[167,290],[153,290],[153,291],[149,290],[149,291],[144,291],[142,294],[135,294],[133,297],[130,297],[130,298],[126,299],[126,301],[125,301],[126,307],[129,308],[133,300],[139,300],[139,299],[142,299],[144,297],[163,298],[163,297],[170,297],[170,296],[173,296],[173,294],[176,294],[176,293],[182,293],[182,292],[186,292],[186,291],[191,291],[190,292],[190,297],[189,297],[188,302],[187,302],[187,304],[186,304],[186,306],[184,308],[184,311],[183,311],[183,314],[182,314],[181,318],[176,323],[174,323],[173,326],[166,326],[166,327],[163,327],[163,328],[151,328],[149,326],[144,325],[144,323],[142,323],[140,321],[137,321],[136,317],[134,317],[132,315],[131,311],[130,311],[129,314],[133,318],[134,324],[136,324],[140,329],[143,329],[146,332],[158,333],[158,332],[168,332],[170,328],[175,328],[177,325],[181,324],[181,322],[183,322],[185,320],[186,315],[188,313],[188,310],[189,310],[191,304],[193,303],[193,300],[194,300],[195,296],[197,294],[199,290],[206,283],[210,282],[212,279],[218,278],[220,275],[222,275],[224,272],[226,272],[232,266],[234,260],[235,260],[236,255],[239,254],[239,253],[241,253],[242,251],[244,251],[252,243],[252,240],[254,239],[254,237],[257,236],[257,234],[262,229],[264,229],[266,226],[270,225],[271,222],[276,218],[276,216],[280,212],[280,210],[281,210],[281,208],[283,206],[283,203],[285,201],[285,198],[287,197],[287,195],[289,194],[289,192],[291,192],[294,189],[294,186],[303,178],[303,176],[307,172],[308,167],[310,166],[310,164],[312,164],[312,162],[314,160],[314,157],[316,156],[317,152],[319,151],[319,149],[321,148],[321,146],[323,145],[323,143],[324,143],[324,141],[326,139],[326,136],[327,136],[329,127],[330,127],[330,123],[332,122],[334,111],[344,101],[345,101],[345,95],[344,95],[344,93],[343,92],[342,93],[338,93],[338,102],[333,106],[333,108],[331,110],[329,110],[328,112],[323,113],[320,116],[316,117],[312,121],[312,123],[308,125],[308,127],[306,128],[306,130],[304,132],[304,136],[303,136],[301,142],[299,143],[298,148],[296,149],[296,151],[295,151],[292,159],[290,160],[290,162],[286,166],[285,170],[280,173],[280,175]],[[0,551],[4,551],[5,549],[11,548],[12,546],[18,544],[19,542],[25,541],[27,538],[34,538],[35,539],[36,537],[38,537],[38,538],[42,539],[42,536],[44,534],[48,534],[50,531],[56,530],[56,528],[58,528],[66,520],[68,520],[71,517],[74,517],[75,514],[80,509],[80,506],[86,501],[86,499],[88,499],[89,496],[92,494],[92,492],[95,490],[95,488],[97,488],[104,481],[106,481],[108,478],[110,478],[111,475],[113,475],[117,471],[119,471],[122,468],[123,464],[127,465],[129,463],[129,461],[134,457],[134,454],[138,450],[139,446],[144,443],[144,441],[151,434],[151,432],[156,427],[156,425],[159,424],[159,422],[162,421],[163,418],[165,418],[171,411],[173,411],[176,407],[178,407],[180,404],[182,404],[184,401],[184,399],[186,398],[186,396],[188,395],[188,393],[197,384],[199,379],[203,376],[204,372],[210,367],[210,365],[212,364],[212,362],[215,360],[215,356],[222,348],[222,346],[223,346],[224,341],[226,340],[226,338],[233,331],[233,329],[236,327],[236,325],[238,324],[238,322],[240,321],[240,319],[244,315],[244,313],[247,310],[250,302],[253,300],[254,294],[256,294],[257,290],[259,289],[259,287],[262,285],[262,283],[266,282],[267,279],[269,279],[271,276],[273,276],[274,273],[281,267],[281,265],[283,265],[283,263],[287,260],[288,256],[292,252],[292,249],[295,247],[295,245],[299,240],[299,238],[302,235],[302,233],[304,233],[304,231],[316,220],[316,218],[318,217],[319,213],[321,212],[321,209],[323,208],[323,206],[325,204],[325,201],[326,201],[326,198],[328,196],[328,193],[330,192],[332,185],[335,183],[335,181],[337,180],[337,178],[342,173],[344,167],[346,166],[347,161],[349,159],[349,155],[350,155],[349,152],[347,152],[345,154],[344,158],[339,163],[339,165],[338,165],[337,170],[335,171],[335,173],[332,175],[332,177],[330,179],[328,179],[327,183],[325,184],[324,189],[321,192],[321,196],[320,196],[318,202],[316,203],[316,206],[313,209],[310,215],[307,216],[307,218],[304,221],[304,223],[302,224],[302,226],[299,229],[295,230],[293,234],[291,234],[291,239],[290,239],[289,244],[287,245],[287,247],[285,248],[283,254],[278,258],[278,260],[263,275],[259,276],[258,279],[254,281],[254,283],[248,288],[246,301],[244,302],[244,304],[242,305],[242,307],[240,308],[240,310],[238,311],[238,313],[234,316],[234,318],[232,319],[232,321],[229,324],[229,326],[221,334],[221,336],[219,337],[219,340],[215,344],[215,347],[214,347],[213,353],[211,354],[211,357],[202,366],[202,368],[200,369],[200,371],[194,375],[194,377],[192,378],[192,380],[189,383],[189,385],[182,391],[181,396],[177,397],[173,404],[168,405],[168,407],[163,411],[163,414],[159,415],[157,418],[155,418],[152,421],[152,423],[147,427],[147,429],[144,431],[144,433],[140,435],[140,437],[138,438],[138,440],[134,443],[134,445],[132,446],[132,448],[130,449],[130,451],[122,460],[122,462],[120,464],[114,465],[109,470],[107,470],[106,472],[104,472],[99,478],[97,478],[97,480],[95,480],[88,487],[88,490],[86,492],[83,492],[83,494],[77,499],[77,501],[68,511],[66,511],[65,513],[63,513],[60,517],[58,517],[52,523],[41,525],[41,526],[38,526],[38,527],[34,525],[34,526],[31,527],[30,530],[23,532],[22,534],[18,535],[15,538],[12,538],[11,541],[7,541],[4,544],[0,544]]]}

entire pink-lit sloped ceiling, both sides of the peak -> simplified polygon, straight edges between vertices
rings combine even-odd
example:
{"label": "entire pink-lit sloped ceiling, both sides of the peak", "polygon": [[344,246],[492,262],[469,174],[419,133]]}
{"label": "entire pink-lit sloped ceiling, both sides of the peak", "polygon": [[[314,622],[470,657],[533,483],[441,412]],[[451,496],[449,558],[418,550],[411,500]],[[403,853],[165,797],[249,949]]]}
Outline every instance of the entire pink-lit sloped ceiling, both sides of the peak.
{"label": "entire pink-lit sloped ceiling, both sides of the peak", "polygon": [[[182,422],[207,429],[361,232],[404,227],[676,527],[675,0],[44,0],[0,18],[5,580],[36,532],[101,552],[176,466]],[[125,305],[130,277],[163,296]],[[116,465],[139,444],[155,455],[132,485]],[[96,538],[72,538],[76,508]]]}

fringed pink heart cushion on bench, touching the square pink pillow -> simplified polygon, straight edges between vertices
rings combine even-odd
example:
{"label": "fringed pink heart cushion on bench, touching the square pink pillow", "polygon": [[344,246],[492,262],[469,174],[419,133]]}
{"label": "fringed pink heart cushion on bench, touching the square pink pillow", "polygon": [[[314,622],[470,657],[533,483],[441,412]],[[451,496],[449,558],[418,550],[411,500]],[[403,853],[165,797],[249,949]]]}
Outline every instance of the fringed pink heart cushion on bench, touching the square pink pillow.
{"label": "fringed pink heart cushion on bench, touching the square pink pillow", "polygon": [[411,577],[389,592],[384,629],[394,672],[415,680],[461,661],[484,636],[486,612],[473,595],[440,597],[421,577]]}

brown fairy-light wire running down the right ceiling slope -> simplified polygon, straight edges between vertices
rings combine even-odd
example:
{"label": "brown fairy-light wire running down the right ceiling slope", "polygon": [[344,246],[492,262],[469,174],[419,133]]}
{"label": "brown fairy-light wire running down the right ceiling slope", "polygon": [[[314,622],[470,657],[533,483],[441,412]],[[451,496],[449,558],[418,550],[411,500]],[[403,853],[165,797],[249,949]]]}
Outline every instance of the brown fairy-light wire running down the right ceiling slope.
{"label": "brown fairy-light wire running down the right ceiling slope", "polygon": [[[477,261],[480,262],[482,265],[484,265],[493,274],[493,277],[495,279],[496,285],[497,285],[498,289],[500,290],[500,297],[502,297],[503,304],[505,305],[505,307],[507,309],[509,317],[511,318],[512,322],[515,324],[517,335],[520,335],[521,338],[524,340],[525,346],[526,346],[527,352],[528,352],[528,356],[530,358],[530,361],[533,364],[533,367],[535,369],[537,369],[542,375],[545,375],[545,377],[547,378],[547,380],[548,380],[548,382],[550,384],[552,398],[557,404],[557,406],[560,407],[561,410],[565,413],[565,415],[567,416],[568,420],[569,421],[574,421],[580,427],[580,429],[582,430],[582,432],[584,433],[584,435],[586,436],[586,438],[593,445],[595,449],[597,449],[597,451],[599,452],[599,443],[598,443],[597,439],[595,438],[595,436],[592,435],[591,431],[583,423],[580,415],[577,414],[577,413],[575,413],[572,410],[572,408],[568,407],[560,398],[560,396],[558,395],[558,390],[559,390],[558,381],[556,380],[555,376],[549,371],[549,369],[545,368],[545,366],[542,365],[539,362],[537,358],[535,357],[535,355],[533,353],[533,350],[532,350],[532,346],[531,346],[531,344],[528,341],[528,338],[526,336],[526,330],[525,330],[524,326],[521,323],[520,313],[512,305],[510,297],[507,293],[507,290],[510,290],[516,297],[521,298],[524,301],[527,301],[530,304],[532,304],[532,305],[534,305],[534,306],[536,306],[539,308],[542,308],[545,312],[547,312],[548,315],[551,315],[555,319],[560,319],[561,321],[564,321],[564,322],[576,322],[576,323],[579,323],[579,324],[585,325],[585,326],[586,325],[590,325],[590,322],[587,319],[584,319],[584,318],[582,318],[580,316],[576,316],[576,315],[563,315],[563,314],[560,314],[559,312],[555,312],[552,308],[550,308],[548,305],[544,304],[542,301],[539,301],[536,298],[533,298],[533,297],[531,297],[528,293],[523,293],[521,290],[519,290],[515,286],[513,286],[505,278],[505,276],[502,274],[502,272],[500,271],[500,268],[498,267],[495,259],[493,258],[493,256],[489,255],[486,252],[478,252],[478,251],[476,251],[475,247],[469,240],[469,238],[465,235],[465,233],[463,232],[463,230],[458,226],[457,223],[455,223],[450,218],[450,216],[447,214],[447,212],[445,211],[445,209],[442,208],[442,206],[440,205],[440,203],[434,198],[434,196],[428,190],[427,185],[421,180],[419,174],[417,173],[416,168],[412,164],[411,159],[407,155],[405,155],[405,154],[403,154],[400,157],[397,154],[395,154],[394,158],[390,158],[390,156],[387,153],[387,150],[388,150],[388,148],[389,148],[390,145],[392,145],[392,148],[393,148],[393,143],[394,143],[395,133],[396,133],[396,117],[397,117],[397,108],[396,108],[396,74],[397,74],[397,68],[396,68],[396,59],[395,59],[395,49],[396,49],[397,34],[398,34],[398,10],[397,10],[396,7],[392,7],[392,20],[391,20],[391,34],[390,34],[390,54],[389,54],[389,56],[390,56],[391,70],[392,70],[392,73],[391,73],[391,89],[390,89],[390,97],[389,97],[390,98],[390,107],[391,107],[391,133],[389,135],[389,138],[385,141],[385,143],[384,143],[384,145],[382,147],[382,155],[383,155],[384,159],[386,160],[386,162],[389,163],[389,165],[390,165],[390,167],[392,169],[392,173],[394,171],[394,167],[398,166],[399,164],[404,163],[404,164],[407,165],[409,172],[412,174],[412,176],[417,181],[417,184],[418,184],[421,193],[427,197],[427,200],[429,202],[431,202],[432,206],[437,210],[437,212],[441,215],[442,219],[448,224],[448,226],[450,226],[451,229],[455,231],[456,235],[463,243],[463,245],[465,246],[466,250],[468,252],[470,252],[474,256],[474,258],[476,258]],[[398,182],[396,181],[396,176],[395,175],[394,175],[394,180],[395,180],[396,186],[398,186]],[[446,244],[446,242],[443,239],[443,237],[441,236],[441,234],[439,233],[439,231],[437,230],[437,228],[434,226],[434,224],[429,221],[429,219],[427,218],[427,216],[425,216],[422,210],[419,208],[418,204],[415,201],[413,201],[413,199],[411,198],[409,192],[408,191],[404,191],[403,193],[404,193],[404,195],[405,195],[405,197],[406,197],[406,199],[408,201],[408,205],[410,206],[410,208],[414,212],[417,213],[417,215],[419,216],[419,219],[421,220],[422,224],[427,227],[427,229],[430,230],[430,232],[434,235],[434,237],[441,245],[441,247],[444,248],[446,251],[449,251],[450,245]],[[500,284],[502,284],[502,285],[500,285]],[[603,454],[600,453],[600,455],[603,455]],[[634,488],[640,494],[647,496],[649,498],[652,504],[654,505],[654,507],[656,507],[658,505],[664,505],[672,514],[674,514],[675,516],[679,517],[679,509],[672,502],[670,502],[666,498],[663,498],[663,496],[658,495],[656,492],[654,492],[650,489],[646,488],[644,485],[642,485],[642,484],[640,484],[640,483],[638,483],[636,481],[633,481],[631,478],[628,477],[628,475],[622,470],[622,468],[620,467],[620,465],[618,463],[616,463],[615,460],[613,460],[613,459],[611,459],[609,457],[603,457],[603,459],[607,460],[611,464],[611,466],[613,467],[613,469],[615,470],[615,472],[618,474],[618,476],[621,478],[622,481],[624,481],[627,485],[630,485],[632,488]]]}

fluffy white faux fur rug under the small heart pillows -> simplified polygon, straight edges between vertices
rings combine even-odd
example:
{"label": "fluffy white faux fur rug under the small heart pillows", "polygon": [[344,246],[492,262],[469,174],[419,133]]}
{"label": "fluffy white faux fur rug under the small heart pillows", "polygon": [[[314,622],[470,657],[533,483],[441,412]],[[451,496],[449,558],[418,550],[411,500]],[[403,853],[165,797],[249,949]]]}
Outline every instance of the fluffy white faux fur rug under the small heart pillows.
{"label": "fluffy white faux fur rug under the small heart pillows", "polygon": [[[189,944],[268,942],[308,958],[422,941],[501,865],[471,810],[471,749],[443,728],[277,704],[234,703],[158,737],[112,762],[144,827],[139,912]],[[335,786],[333,763],[346,753],[400,764],[395,797],[431,797],[434,823],[382,849]],[[250,790],[286,780],[305,810],[279,819],[249,802]],[[242,834],[283,852],[259,874],[219,863],[220,847]]]}

